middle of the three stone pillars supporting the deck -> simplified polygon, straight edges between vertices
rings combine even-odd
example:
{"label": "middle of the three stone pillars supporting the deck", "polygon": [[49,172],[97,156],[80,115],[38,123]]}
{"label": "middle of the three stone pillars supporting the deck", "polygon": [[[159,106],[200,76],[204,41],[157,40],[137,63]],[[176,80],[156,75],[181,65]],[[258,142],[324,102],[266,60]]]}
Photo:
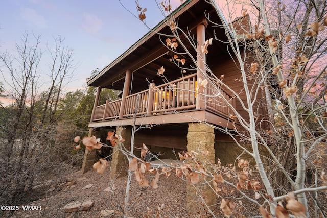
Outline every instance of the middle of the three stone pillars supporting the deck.
{"label": "middle of the three stone pillars supporting the deck", "polygon": [[132,127],[116,127],[116,133],[120,134],[125,139],[125,141],[123,142],[123,148],[119,147],[120,145],[118,143],[113,148],[113,155],[110,163],[111,179],[126,175],[128,172],[128,160],[120,150],[124,149],[125,147],[128,151],[130,151]]}

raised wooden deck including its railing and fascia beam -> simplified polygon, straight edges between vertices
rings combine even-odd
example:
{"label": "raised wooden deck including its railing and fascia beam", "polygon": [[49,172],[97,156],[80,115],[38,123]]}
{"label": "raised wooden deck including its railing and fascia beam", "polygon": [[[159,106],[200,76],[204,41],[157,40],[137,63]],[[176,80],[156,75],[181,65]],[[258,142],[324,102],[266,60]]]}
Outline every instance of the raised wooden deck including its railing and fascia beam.
{"label": "raised wooden deck including its railing and fascia beam", "polygon": [[148,90],[126,96],[125,105],[119,99],[95,107],[89,127],[132,125],[135,115],[138,124],[187,123],[199,120],[223,126],[232,123],[233,120],[229,118],[230,109],[223,98],[233,106],[236,104],[235,100],[226,91],[220,89],[217,93],[208,85],[206,106],[197,108],[196,87],[196,74],[159,86],[150,84]]}

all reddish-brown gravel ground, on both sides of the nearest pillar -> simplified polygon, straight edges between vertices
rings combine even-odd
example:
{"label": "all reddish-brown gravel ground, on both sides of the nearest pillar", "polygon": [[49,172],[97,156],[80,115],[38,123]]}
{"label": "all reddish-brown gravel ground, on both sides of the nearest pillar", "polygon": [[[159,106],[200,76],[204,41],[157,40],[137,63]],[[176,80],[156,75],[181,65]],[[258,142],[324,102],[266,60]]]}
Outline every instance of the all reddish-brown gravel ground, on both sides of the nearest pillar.
{"label": "all reddish-brown gravel ground, on both sides of the nearest pillar", "polygon": [[[319,148],[322,151],[325,147]],[[321,156],[321,157],[320,157]],[[319,171],[327,168],[326,153],[319,155],[317,160],[320,163]],[[11,217],[28,218],[28,217],[87,217],[87,218],[100,218],[100,217],[120,217],[124,210],[124,196],[127,183],[127,176],[119,177],[114,181],[111,181],[109,176],[109,169],[106,169],[103,175],[90,170],[87,173],[81,175],[80,172],[75,172],[68,175],[65,178],[56,180],[51,184],[40,188],[40,192],[45,192],[39,200],[26,203],[28,206],[41,206],[40,211],[23,211],[22,205],[19,210],[16,211]],[[147,177],[148,181],[151,181],[153,175]],[[83,189],[87,185],[92,187]],[[130,217],[211,217],[210,215],[200,215],[195,213],[188,213],[186,211],[186,182],[172,174],[169,178],[164,175],[160,176],[159,187],[157,189],[141,188],[137,182],[132,178],[132,184],[130,189],[130,206],[128,215]],[[108,190],[107,188],[110,190]],[[231,192],[232,189],[227,187],[227,192]],[[107,191],[105,191],[107,189]],[[237,205],[236,210],[230,217],[260,217],[258,207],[245,201],[234,192],[234,201],[242,200],[242,206]],[[253,193],[249,193],[253,195]],[[327,205],[326,193],[321,193],[319,201],[322,208],[325,209]],[[62,209],[68,203],[75,201],[85,202],[93,201],[94,206],[87,211],[77,211],[73,213],[64,212]],[[224,217],[223,213],[219,209],[220,199],[217,200],[217,209],[214,210],[216,217]],[[312,199],[309,199],[309,204],[312,204]],[[323,206],[324,205],[324,206]],[[101,211],[107,210],[110,215],[104,216]]]}

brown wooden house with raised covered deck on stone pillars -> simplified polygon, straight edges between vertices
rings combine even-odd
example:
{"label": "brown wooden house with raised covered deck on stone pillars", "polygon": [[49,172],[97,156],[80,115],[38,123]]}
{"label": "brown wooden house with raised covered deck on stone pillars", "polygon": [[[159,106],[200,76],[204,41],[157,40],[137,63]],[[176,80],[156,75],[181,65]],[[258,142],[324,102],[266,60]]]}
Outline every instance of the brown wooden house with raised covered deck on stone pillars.
{"label": "brown wooden house with raised covered deck on stone pillars", "polygon": [[[219,27],[226,21],[222,14],[202,0],[184,2],[173,16],[180,29],[189,31],[189,38],[182,35],[180,38],[192,57],[181,55],[184,53],[182,46],[176,49],[167,47],[166,39],[169,37],[164,35],[171,35],[171,27],[165,20],[160,22],[88,82],[89,86],[98,87],[89,122],[90,134],[99,129],[115,129],[125,138],[125,147],[128,148],[135,122],[136,126],[148,128],[135,133],[134,146],[141,148],[145,143],[151,152],[160,152],[160,158],[176,159],[181,150],[200,148],[211,152],[213,163],[218,158],[223,164],[233,162],[242,151],[228,135],[213,126],[238,128],[238,120],[231,116],[230,108],[221,101],[220,95],[214,93],[212,85],[205,86],[203,93],[197,89],[204,78],[203,72],[208,73],[209,68],[217,78],[224,75],[224,83],[241,96],[243,94],[240,71],[230,56],[229,45],[224,43],[228,41],[226,32]],[[209,38],[213,38],[213,42],[205,54],[201,45]],[[196,44],[197,52],[189,41]],[[174,59],[174,51],[179,52],[179,58],[185,59],[184,65]],[[198,68],[192,69],[192,58],[197,61]],[[162,66],[165,68],[165,80],[158,74]],[[103,88],[122,91],[122,98],[98,105]],[[241,102],[236,101],[232,93],[223,88],[220,93],[240,111],[242,117],[247,117]],[[123,159],[118,154],[113,157],[111,173],[122,172],[119,167],[126,166],[122,163]]]}

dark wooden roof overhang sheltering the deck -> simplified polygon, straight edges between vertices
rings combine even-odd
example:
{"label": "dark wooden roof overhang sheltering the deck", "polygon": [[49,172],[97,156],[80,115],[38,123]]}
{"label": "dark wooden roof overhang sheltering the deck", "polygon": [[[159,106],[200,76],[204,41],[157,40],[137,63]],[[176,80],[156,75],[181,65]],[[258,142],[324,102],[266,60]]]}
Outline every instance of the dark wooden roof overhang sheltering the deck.
{"label": "dark wooden roof overhang sheltering the deck", "polygon": [[[213,45],[209,48],[214,51],[206,57],[207,63],[209,63],[216,57],[228,55],[226,44],[221,42],[227,40],[225,30],[221,27],[223,23],[226,24],[226,20],[219,11],[218,6],[214,8],[203,0],[189,0],[174,10],[171,16],[178,22],[179,28],[191,33],[188,39],[184,38],[185,41],[191,37],[191,40],[196,42],[196,32],[193,29],[203,22],[203,19],[206,19],[205,15],[208,15],[209,20],[212,21],[208,22],[206,37],[220,39],[219,41],[214,40]],[[167,20],[169,20],[169,16],[129,47],[127,51],[105,67],[87,84],[89,86],[122,90],[126,71],[131,70],[133,72],[133,86],[137,87],[137,90],[131,92],[136,92],[148,88],[146,80],[154,82],[156,85],[163,83],[162,78],[157,75],[157,71],[161,66],[165,66],[167,79],[173,80],[176,79],[176,75],[181,76],[181,69],[170,60],[174,54],[166,47],[167,37],[157,34],[171,34],[171,30],[166,24]],[[179,51],[183,52],[182,50]],[[189,57],[184,56],[183,58],[188,62]],[[191,63],[191,61],[188,63]]]}

